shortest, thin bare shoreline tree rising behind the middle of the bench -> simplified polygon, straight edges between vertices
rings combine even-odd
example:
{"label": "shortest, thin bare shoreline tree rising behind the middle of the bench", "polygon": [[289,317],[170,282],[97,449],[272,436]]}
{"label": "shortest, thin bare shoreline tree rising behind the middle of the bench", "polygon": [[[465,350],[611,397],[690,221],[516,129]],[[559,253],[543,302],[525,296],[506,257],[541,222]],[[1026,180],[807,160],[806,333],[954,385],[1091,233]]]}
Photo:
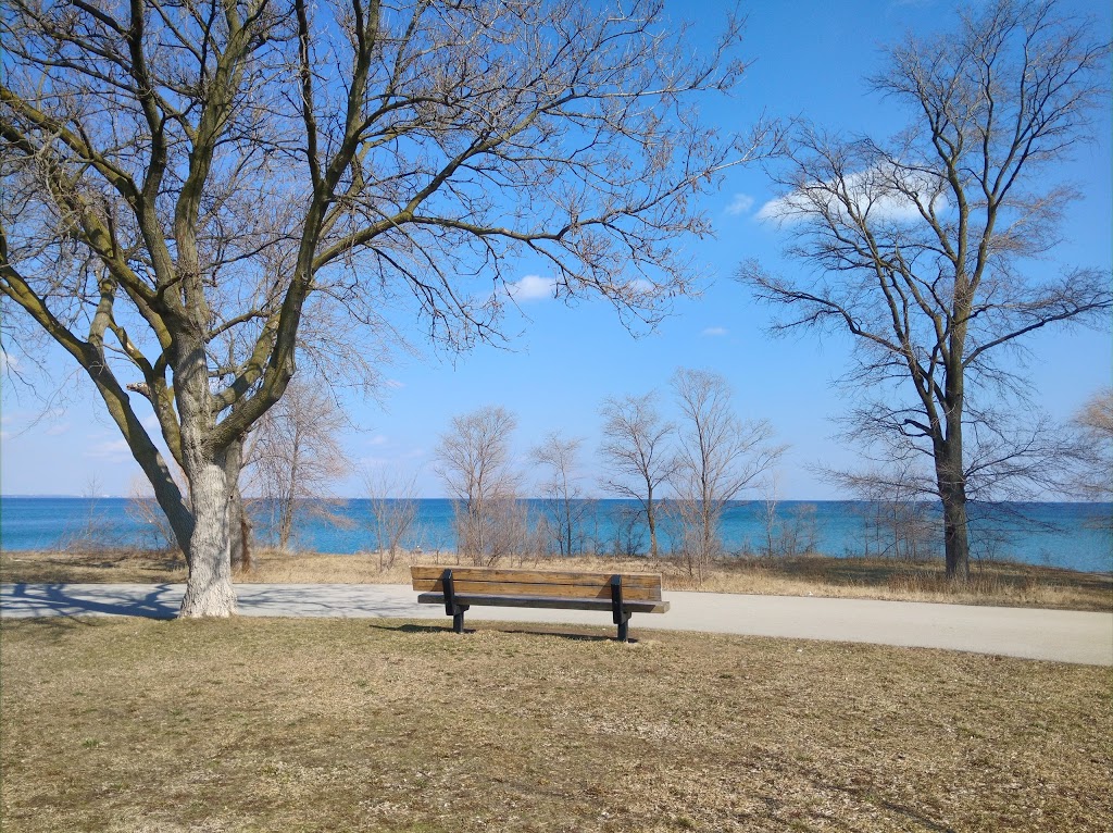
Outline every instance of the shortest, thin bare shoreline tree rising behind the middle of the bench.
{"label": "shortest, thin bare shoreline tree rising behind the middle of the bench", "polygon": [[582,438],[565,439],[554,431],[530,453],[533,462],[546,472],[540,484],[541,497],[549,513],[552,541],[561,556],[583,550],[583,523],[594,509],[583,489],[579,461],[582,447]]}

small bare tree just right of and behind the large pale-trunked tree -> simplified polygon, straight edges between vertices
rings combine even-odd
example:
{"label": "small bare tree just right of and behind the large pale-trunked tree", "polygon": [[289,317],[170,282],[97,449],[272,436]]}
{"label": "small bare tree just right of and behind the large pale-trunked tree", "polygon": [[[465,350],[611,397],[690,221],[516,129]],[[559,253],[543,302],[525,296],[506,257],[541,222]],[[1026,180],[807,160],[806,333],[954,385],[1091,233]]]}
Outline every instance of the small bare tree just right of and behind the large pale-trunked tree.
{"label": "small bare tree just right of and behind the large pale-trunked tree", "polygon": [[247,452],[254,489],[270,512],[279,549],[289,548],[301,512],[336,522],[332,484],[351,471],[339,432],[348,424],[327,388],[295,379],[256,423]]}

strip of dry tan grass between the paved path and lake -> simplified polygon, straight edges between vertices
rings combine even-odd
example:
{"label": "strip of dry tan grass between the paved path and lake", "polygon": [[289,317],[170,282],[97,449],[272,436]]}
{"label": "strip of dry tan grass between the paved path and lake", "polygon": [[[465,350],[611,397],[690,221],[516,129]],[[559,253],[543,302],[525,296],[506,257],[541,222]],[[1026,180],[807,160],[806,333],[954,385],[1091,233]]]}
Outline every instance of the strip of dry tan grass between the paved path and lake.
{"label": "strip of dry tan grass between the paved path and lake", "polygon": [[[415,564],[453,564],[454,556],[414,557]],[[400,557],[381,567],[378,556],[333,556],[313,552],[262,551],[243,582],[278,584],[408,584],[411,559]],[[569,567],[591,570],[661,572],[670,590],[707,590],[776,596],[945,601],[969,605],[1047,607],[1073,610],[1113,610],[1113,578],[1053,567],[1011,562],[977,562],[972,581],[948,586],[937,561],[806,557],[792,559],[722,559],[702,581],[673,559],[615,560],[601,558],[524,559],[512,566]],[[0,552],[3,581],[139,581],[174,582],[186,578],[180,557],[135,551]]]}

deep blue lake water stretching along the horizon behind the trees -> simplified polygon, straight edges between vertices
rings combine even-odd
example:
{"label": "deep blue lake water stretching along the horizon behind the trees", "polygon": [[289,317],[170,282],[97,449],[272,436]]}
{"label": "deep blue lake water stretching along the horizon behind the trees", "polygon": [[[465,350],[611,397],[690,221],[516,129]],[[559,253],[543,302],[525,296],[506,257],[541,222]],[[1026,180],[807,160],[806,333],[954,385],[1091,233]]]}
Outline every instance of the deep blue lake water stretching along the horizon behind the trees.
{"label": "deep blue lake water stretching along the horizon behind the trees", "polygon": [[[545,516],[544,501],[525,501],[534,518]],[[452,501],[418,500],[407,548],[452,550]],[[636,503],[599,500],[585,506],[577,550],[646,551],[648,532],[636,518]],[[777,551],[815,549],[829,556],[904,555],[907,537],[895,540],[884,508],[863,501],[781,501],[775,511],[760,501],[732,504],[723,514],[720,537],[726,551],[761,555],[772,532]],[[295,545],[318,552],[351,553],[376,549],[370,503],[347,500],[332,510],[342,522],[303,512]],[[972,549],[977,558],[1012,559],[1091,572],[1113,571],[1110,503],[1011,503],[972,507]],[[267,507],[256,503],[255,533],[272,537]],[[925,532],[915,538],[915,555],[940,557],[937,510],[924,509]],[[771,523],[771,527],[770,527]],[[662,522],[661,545],[674,543],[674,525]],[[63,548],[81,539],[114,547],[158,545],[156,525],[144,520],[125,498],[0,498],[0,547],[8,551]]]}

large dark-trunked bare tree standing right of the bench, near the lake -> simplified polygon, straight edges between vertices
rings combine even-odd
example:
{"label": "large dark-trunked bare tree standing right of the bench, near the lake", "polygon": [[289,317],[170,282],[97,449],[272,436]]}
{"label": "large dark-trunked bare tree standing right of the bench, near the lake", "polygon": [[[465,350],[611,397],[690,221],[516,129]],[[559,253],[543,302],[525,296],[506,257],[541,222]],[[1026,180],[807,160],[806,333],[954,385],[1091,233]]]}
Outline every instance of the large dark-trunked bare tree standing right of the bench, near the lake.
{"label": "large dark-trunked bare tree standing right of the bench, near the lake", "polygon": [[1048,177],[1107,104],[1099,31],[1054,0],[994,0],[895,46],[873,86],[908,106],[906,129],[844,139],[804,125],[775,169],[785,193],[762,213],[815,277],[741,270],[782,307],[776,330],[854,336],[845,381],[876,394],[858,430],[881,457],[924,460],[955,580],[968,576],[972,496],[1038,481],[1055,453],[1038,416],[1011,418],[1024,382],[1001,360],[1042,327],[1107,324],[1113,304],[1107,275],[1048,264],[1075,196]]}

